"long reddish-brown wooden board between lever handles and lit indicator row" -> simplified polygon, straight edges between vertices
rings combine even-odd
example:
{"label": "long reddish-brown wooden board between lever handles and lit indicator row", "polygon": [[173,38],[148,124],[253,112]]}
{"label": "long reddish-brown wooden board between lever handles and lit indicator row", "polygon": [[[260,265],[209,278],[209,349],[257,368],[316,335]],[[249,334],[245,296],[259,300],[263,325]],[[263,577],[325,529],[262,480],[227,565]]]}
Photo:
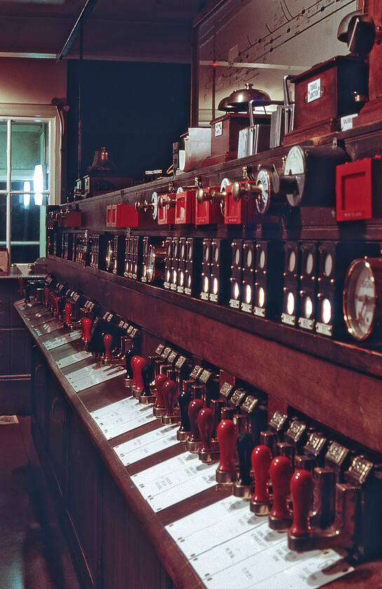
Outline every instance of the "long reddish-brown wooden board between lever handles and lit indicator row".
{"label": "long reddish-brown wooden board between lever handles and lit indicator row", "polygon": [[[53,269],[59,270],[60,265],[54,264]],[[80,282],[79,287],[86,292],[86,272],[76,278]],[[371,368],[380,375],[382,364],[378,353],[373,355],[359,351],[355,346],[322,341],[320,337],[243,317],[240,313],[213,304],[194,300],[185,302],[186,297],[171,296],[154,287],[137,292],[102,278],[92,285],[92,294],[96,299],[102,304],[109,304],[114,311],[123,313],[145,330],[217,367],[223,367],[343,435],[382,451],[382,381],[360,371]],[[165,297],[168,300],[164,300]],[[188,304],[189,308],[176,306],[175,311],[175,302]],[[203,311],[203,315],[199,310]],[[205,316],[206,310],[210,310],[210,316]],[[233,325],[221,323],[222,317],[230,319]],[[240,328],[234,326],[236,319]],[[287,334],[286,343],[290,341],[294,347],[242,329],[244,321],[247,325],[256,324],[257,331],[260,331],[261,325],[264,325],[264,332],[269,327],[268,331],[274,337]],[[311,353],[303,351],[305,342]],[[331,351],[341,365],[328,361]],[[320,352],[323,358],[313,355]],[[351,370],[346,365],[350,358],[354,359],[357,370]],[[355,408],[359,411],[357,419],[354,419]]]}

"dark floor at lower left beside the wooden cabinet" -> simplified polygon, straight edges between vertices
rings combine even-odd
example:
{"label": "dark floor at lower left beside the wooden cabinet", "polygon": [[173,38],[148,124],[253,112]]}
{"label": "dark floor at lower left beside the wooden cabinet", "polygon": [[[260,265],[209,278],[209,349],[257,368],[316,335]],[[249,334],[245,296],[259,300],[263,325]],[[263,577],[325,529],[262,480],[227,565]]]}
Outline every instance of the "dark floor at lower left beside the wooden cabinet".
{"label": "dark floor at lower left beside the wooden cabinet", "polygon": [[0,588],[81,589],[49,507],[29,417],[0,425]]}

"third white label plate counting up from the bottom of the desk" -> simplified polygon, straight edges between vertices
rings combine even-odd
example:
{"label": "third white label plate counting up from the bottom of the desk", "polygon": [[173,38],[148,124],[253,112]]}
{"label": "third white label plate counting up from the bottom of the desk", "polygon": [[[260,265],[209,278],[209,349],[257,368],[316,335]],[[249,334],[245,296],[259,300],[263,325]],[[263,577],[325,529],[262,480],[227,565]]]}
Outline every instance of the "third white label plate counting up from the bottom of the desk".
{"label": "third white label plate counting up from the bottom of the desk", "polygon": [[178,426],[165,426],[149,431],[139,435],[139,438],[114,447],[114,452],[116,452],[123,466],[128,466],[128,464],[142,460],[146,456],[152,456],[156,452],[177,444],[177,428]]}

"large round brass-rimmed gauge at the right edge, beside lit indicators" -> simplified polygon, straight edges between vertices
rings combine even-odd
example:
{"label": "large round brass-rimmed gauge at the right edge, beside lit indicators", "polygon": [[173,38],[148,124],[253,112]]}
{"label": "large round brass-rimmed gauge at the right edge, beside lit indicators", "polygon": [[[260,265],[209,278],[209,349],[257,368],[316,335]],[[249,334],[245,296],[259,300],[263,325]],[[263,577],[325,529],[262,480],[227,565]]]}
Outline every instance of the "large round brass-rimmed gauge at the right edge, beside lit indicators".
{"label": "large round brass-rimmed gauge at the right edge, beside lit indicators", "polygon": [[343,286],[343,316],[348,332],[357,340],[371,334],[376,320],[376,285],[369,262],[356,259]]}

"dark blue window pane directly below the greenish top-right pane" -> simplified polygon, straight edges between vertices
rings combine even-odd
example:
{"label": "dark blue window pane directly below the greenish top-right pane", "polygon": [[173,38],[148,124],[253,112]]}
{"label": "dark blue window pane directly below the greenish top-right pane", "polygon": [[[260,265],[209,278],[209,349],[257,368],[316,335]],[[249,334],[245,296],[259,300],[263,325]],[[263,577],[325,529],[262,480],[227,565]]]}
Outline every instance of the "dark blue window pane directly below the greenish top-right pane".
{"label": "dark blue window pane directly below the greenish top-right pane", "polygon": [[12,241],[40,240],[40,207],[33,194],[11,196],[11,236]]}

